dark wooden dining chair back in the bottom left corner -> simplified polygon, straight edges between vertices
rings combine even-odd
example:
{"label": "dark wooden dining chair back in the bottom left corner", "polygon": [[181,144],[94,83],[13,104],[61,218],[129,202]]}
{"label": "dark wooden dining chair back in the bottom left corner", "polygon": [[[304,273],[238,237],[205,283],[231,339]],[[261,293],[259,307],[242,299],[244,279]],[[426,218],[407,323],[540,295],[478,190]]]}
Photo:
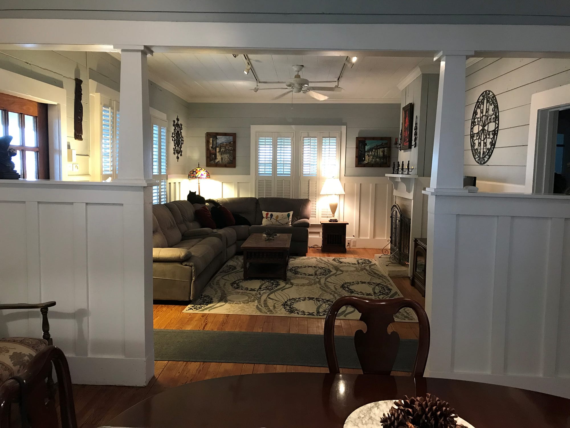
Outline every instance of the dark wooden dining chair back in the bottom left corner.
{"label": "dark wooden dining chair back in the bottom left corner", "polygon": [[[52,368],[57,377],[58,397],[52,397],[48,390],[48,375]],[[17,415],[11,414],[14,404],[19,405],[19,424],[16,424]],[[2,383],[0,427],[9,428],[11,423],[22,428],[77,428],[70,369],[62,350],[55,346],[43,348],[22,373]]]}

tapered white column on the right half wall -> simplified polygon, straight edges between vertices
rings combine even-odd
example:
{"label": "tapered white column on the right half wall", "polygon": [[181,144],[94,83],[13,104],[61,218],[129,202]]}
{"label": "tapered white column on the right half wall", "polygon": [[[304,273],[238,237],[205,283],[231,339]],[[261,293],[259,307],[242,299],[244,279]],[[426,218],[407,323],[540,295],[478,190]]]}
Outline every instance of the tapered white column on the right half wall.
{"label": "tapered white column on the right half wall", "polygon": [[465,60],[473,52],[440,52],[441,59],[431,189],[463,189],[463,134],[465,128]]}

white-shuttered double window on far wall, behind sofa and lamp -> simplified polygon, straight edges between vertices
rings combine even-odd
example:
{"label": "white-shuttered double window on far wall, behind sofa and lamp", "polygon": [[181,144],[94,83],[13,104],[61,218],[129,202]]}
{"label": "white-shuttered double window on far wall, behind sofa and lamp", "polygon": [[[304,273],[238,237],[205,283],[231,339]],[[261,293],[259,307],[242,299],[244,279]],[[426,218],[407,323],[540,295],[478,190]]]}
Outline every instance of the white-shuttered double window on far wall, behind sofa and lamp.
{"label": "white-shuttered double window on far wall, behind sofa and lamp", "polygon": [[[311,199],[311,221],[329,214],[328,204],[317,212],[320,188],[339,176],[340,132],[256,132],[257,197]],[[296,162],[296,163],[295,163]]]}

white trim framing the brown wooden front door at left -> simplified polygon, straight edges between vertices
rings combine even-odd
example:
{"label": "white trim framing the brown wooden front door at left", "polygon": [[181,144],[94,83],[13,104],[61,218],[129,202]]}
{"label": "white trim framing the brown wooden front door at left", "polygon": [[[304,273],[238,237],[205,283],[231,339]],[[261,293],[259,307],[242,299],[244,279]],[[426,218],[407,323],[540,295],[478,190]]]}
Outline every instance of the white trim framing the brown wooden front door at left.
{"label": "white trim framing the brown wooden front door at left", "polygon": [[67,179],[67,91],[0,68],[0,92],[48,104],[50,179]]}

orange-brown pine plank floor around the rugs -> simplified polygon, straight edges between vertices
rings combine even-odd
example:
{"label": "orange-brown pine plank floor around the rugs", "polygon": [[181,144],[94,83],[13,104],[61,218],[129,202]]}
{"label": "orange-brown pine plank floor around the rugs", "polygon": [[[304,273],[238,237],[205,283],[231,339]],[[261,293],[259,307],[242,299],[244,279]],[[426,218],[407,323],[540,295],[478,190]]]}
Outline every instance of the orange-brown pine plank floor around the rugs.
{"label": "orange-brown pine plank floor around the rugs", "polygon": [[[310,248],[307,256],[364,257],[374,259],[378,249],[347,248],[347,253],[321,253]],[[404,295],[424,305],[424,298],[410,285],[407,277],[392,278]],[[232,314],[190,314],[182,313],[185,305],[154,305],[154,328],[158,329],[201,329],[236,332],[275,332],[323,334],[324,319],[307,317],[274,317]],[[352,336],[363,328],[358,320],[337,320],[335,334]],[[414,322],[394,322],[390,326],[401,338],[418,338],[418,327]],[[184,383],[205,379],[250,373],[275,372],[327,372],[327,368],[308,366],[284,366],[265,364],[237,364],[218,362],[155,361],[154,378],[145,387],[74,385],[75,409],[80,428],[94,428],[104,425],[122,411],[137,402]],[[342,373],[360,373],[360,370],[341,369]],[[394,372],[396,374],[397,372]]]}

